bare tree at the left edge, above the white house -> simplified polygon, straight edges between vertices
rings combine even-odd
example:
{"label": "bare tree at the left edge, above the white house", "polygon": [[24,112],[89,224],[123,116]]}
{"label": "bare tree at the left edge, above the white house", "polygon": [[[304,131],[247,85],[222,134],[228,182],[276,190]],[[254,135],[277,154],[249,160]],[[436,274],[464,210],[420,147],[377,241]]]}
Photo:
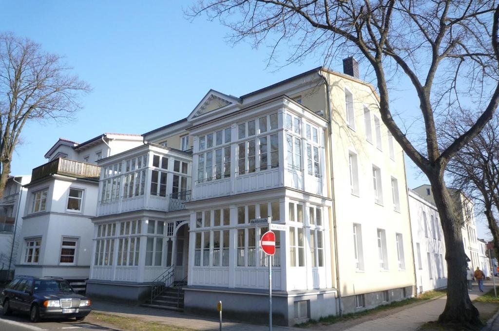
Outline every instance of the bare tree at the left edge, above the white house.
{"label": "bare tree at the left edge, above the white house", "polygon": [[69,119],[90,87],[58,55],[27,38],[0,33],[0,197],[28,121]]}

